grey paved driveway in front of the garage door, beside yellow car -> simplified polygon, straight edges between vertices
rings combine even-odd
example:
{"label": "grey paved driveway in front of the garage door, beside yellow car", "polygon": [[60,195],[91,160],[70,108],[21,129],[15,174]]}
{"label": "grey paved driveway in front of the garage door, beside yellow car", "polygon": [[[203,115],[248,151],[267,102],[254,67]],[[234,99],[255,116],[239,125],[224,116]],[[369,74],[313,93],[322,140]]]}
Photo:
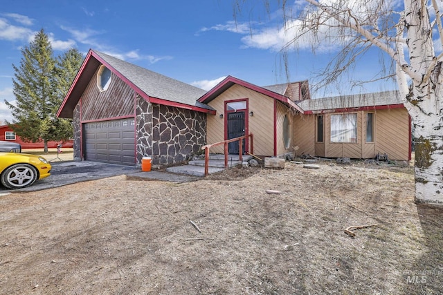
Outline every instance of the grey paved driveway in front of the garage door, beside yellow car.
{"label": "grey paved driveway in front of the garage door, beside yellow car", "polygon": [[51,165],[51,176],[48,178],[37,180],[33,185],[24,189],[8,190],[0,185],[0,195],[20,191],[39,191],[42,189],[51,189],[53,187],[62,187],[66,184],[97,180],[100,178],[108,178],[117,175],[127,175],[128,178],[163,180],[171,182],[189,182],[199,179],[190,175],[177,175],[174,173],[165,173],[160,171],[142,172],[140,167],[90,161],[51,162]]}

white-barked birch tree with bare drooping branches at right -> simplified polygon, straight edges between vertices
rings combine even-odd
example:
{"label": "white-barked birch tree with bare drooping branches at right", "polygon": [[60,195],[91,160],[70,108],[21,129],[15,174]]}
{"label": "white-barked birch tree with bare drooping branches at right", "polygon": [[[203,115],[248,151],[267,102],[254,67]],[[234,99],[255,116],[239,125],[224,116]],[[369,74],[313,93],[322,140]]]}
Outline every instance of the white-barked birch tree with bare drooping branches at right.
{"label": "white-barked birch tree with bare drooping branches at right", "polygon": [[[300,0],[300,10],[278,0],[289,35],[282,52],[309,39],[313,50],[341,44],[323,72],[334,83],[370,48],[392,61],[390,73],[412,119],[415,135],[415,200],[443,203],[443,26],[437,0]],[[235,11],[245,0],[235,1]],[[266,9],[272,1],[264,0]],[[292,2],[291,2],[292,5]],[[381,71],[383,73],[383,71]],[[343,82],[343,81],[342,81]],[[323,84],[323,86],[325,86]]]}

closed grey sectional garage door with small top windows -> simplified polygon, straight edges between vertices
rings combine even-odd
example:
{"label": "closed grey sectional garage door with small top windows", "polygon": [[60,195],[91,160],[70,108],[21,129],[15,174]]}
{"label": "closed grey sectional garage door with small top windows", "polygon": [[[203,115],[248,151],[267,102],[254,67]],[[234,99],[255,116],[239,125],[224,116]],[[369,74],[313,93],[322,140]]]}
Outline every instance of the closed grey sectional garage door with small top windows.
{"label": "closed grey sectional garage door with small top windows", "polygon": [[86,160],[135,165],[134,118],[84,124]]}

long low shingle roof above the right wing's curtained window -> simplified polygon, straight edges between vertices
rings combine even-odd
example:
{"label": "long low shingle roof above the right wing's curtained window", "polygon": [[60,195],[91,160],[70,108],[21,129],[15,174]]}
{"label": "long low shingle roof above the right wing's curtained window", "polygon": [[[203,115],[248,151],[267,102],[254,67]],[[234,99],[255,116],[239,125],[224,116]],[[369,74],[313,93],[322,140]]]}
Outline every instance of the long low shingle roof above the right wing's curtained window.
{"label": "long low shingle roof above the right wing's curtained window", "polygon": [[389,106],[402,103],[398,91],[305,99],[301,102],[297,102],[298,106],[300,106],[303,111],[323,111],[338,108],[360,108],[365,106]]}

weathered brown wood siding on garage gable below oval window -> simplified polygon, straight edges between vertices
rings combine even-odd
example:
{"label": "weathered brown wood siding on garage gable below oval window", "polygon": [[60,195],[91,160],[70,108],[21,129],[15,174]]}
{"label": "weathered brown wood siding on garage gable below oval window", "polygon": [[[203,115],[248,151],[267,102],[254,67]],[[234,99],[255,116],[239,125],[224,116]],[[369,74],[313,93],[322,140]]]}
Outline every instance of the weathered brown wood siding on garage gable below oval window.
{"label": "weathered brown wood siding on garage gable below oval window", "polygon": [[134,90],[114,73],[107,91],[100,91],[96,72],[82,95],[82,121],[134,115],[134,99]]}

